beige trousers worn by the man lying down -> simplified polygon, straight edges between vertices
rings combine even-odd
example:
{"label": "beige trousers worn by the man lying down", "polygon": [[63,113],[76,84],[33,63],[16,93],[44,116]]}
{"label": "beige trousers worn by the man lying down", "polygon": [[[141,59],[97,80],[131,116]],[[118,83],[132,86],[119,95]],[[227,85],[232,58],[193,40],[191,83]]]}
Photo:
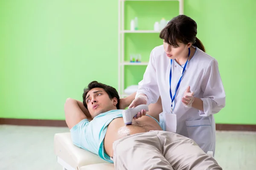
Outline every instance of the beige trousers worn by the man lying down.
{"label": "beige trousers worn by the man lying down", "polygon": [[115,141],[113,162],[116,170],[222,170],[192,139],[160,130]]}

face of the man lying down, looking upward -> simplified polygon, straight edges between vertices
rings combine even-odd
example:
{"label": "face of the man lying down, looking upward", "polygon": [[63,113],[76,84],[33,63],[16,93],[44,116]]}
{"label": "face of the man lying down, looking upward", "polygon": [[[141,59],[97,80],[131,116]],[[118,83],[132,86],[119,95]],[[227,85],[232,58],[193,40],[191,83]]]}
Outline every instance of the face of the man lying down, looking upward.
{"label": "face of the man lying down, looking upward", "polygon": [[94,118],[100,113],[116,109],[117,99],[110,99],[103,88],[93,88],[87,93],[85,102],[90,115]]}

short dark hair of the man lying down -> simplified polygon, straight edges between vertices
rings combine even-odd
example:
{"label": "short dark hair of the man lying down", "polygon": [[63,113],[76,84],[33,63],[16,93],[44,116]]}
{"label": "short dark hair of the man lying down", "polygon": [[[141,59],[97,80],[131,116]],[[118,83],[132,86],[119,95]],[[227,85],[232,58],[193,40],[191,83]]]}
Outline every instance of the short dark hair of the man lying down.
{"label": "short dark hair of the man lying down", "polygon": [[117,99],[116,108],[119,109],[119,99],[120,98],[119,98],[119,95],[118,95],[118,92],[116,91],[116,89],[109,86],[109,85],[105,85],[105,84],[102,84],[102,83],[97,82],[97,81],[90,82],[89,85],[87,86],[87,88],[84,88],[83,104],[84,104],[85,108],[87,108],[87,103],[86,103],[86,100],[85,100],[86,95],[93,88],[103,88],[107,92],[110,99],[113,99],[114,97],[116,97],[116,99]]}

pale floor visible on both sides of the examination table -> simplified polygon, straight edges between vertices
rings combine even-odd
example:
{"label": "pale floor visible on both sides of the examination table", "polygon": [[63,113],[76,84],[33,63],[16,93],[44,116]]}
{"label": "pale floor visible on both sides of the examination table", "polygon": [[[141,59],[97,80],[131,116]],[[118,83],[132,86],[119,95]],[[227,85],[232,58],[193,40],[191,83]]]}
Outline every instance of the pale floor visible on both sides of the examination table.
{"label": "pale floor visible on both sides of the examination table", "polygon": [[[67,127],[0,125],[0,170],[61,170],[55,133]],[[223,170],[256,170],[256,132],[217,131],[215,159]]]}

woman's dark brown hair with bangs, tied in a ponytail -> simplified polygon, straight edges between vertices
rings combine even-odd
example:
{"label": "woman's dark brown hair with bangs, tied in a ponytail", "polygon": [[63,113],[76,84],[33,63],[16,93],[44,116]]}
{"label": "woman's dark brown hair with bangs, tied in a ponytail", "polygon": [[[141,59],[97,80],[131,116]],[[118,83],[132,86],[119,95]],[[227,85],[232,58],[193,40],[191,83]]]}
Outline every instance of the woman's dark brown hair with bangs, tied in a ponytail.
{"label": "woman's dark brown hair with bangs, tied in a ponytail", "polygon": [[183,44],[192,42],[192,45],[205,52],[204,45],[196,37],[196,34],[196,22],[186,15],[178,15],[169,21],[166,27],[160,32],[159,37],[174,47],[179,46],[177,41]]}

